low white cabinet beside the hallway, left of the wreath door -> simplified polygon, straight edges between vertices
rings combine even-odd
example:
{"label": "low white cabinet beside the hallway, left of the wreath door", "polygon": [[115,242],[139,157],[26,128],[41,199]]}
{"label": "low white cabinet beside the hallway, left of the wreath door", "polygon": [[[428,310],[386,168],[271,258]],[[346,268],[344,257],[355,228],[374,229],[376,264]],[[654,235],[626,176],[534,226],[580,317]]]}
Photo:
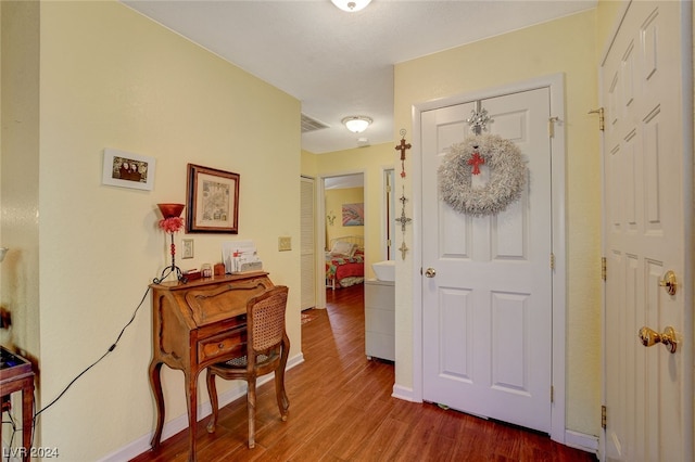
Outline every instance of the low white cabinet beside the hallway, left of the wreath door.
{"label": "low white cabinet beside the hallway, left of the wreath door", "polygon": [[367,358],[395,361],[395,286],[365,281],[365,350]]}

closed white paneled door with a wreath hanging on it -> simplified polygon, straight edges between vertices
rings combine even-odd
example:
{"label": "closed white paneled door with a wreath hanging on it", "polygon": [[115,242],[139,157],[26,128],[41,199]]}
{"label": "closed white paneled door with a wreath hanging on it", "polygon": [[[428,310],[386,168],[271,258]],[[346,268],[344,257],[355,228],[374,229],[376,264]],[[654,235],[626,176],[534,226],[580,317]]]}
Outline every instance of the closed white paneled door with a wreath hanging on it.
{"label": "closed white paneled door with a wreath hanging on it", "polygon": [[[543,87],[421,113],[422,397],[545,433],[549,100]],[[490,120],[471,138],[473,110]]]}

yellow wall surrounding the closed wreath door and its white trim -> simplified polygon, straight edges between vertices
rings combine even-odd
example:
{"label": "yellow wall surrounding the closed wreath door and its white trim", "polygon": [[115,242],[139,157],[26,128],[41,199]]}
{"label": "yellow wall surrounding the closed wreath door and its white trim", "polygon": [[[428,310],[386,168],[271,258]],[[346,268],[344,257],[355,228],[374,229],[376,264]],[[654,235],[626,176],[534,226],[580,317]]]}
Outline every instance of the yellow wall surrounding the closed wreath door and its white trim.
{"label": "yellow wall surrounding the closed wreath door and its white trim", "polygon": [[[412,106],[455,94],[565,75],[567,144],[567,427],[599,433],[601,406],[601,164],[595,10],[497,36],[395,66],[394,127],[412,128]],[[581,39],[580,39],[581,38]],[[417,168],[406,161],[406,170]],[[413,196],[410,178],[397,179]],[[413,216],[412,204],[406,204]],[[406,243],[413,248],[412,233]],[[413,386],[413,268],[396,259],[396,384]]]}

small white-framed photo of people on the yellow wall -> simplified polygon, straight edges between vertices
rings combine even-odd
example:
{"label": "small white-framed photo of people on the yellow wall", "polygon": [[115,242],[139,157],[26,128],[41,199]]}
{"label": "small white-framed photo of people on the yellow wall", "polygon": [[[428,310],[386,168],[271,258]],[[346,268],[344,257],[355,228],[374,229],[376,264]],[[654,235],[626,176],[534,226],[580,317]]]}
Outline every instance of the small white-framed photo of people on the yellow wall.
{"label": "small white-framed photo of people on the yellow wall", "polygon": [[154,189],[154,157],[105,147],[103,159],[102,184],[146,191]]}

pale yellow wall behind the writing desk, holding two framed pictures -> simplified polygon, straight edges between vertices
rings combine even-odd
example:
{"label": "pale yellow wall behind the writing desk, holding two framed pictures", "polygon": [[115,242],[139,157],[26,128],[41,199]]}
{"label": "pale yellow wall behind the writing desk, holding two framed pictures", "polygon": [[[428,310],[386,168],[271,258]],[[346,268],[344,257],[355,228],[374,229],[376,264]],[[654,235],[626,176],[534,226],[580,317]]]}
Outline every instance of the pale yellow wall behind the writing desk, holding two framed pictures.
{"label": "pale yellow wall behind the writing desk, holding two framed pictures", "polygon": [[[3,35],[16,20],[5,5]],[[3,262],[2,303],[37,326],[20,346],[40,357],[38,407],[106,351],[167,265],[156,204],[186,201],[187,163],[240,174],[239,234],[179,234],[177,244],[194,239],[195,258],[177,262],[213,262],[224,241],[254,240],[274,282],[290,286],[296,357],[300,255],[279,253],[277,240],[300,242],[300,102],[115,1],[42,2],[37,20],[25,25],[40,30],[40,49],[27,54],[23,42],[3,40],[3,72],[23,64],[14,70],[30,68],[38,85],[34,98],[13,100],[40,119],[9,113],[3,75],[3,120],[17,120],[9,131],[29,143],[2,144],[2,238],[17,255]],[[37,129],[25,134],[25,123]],[[102,185],[104,147],[154,157],[154,190]],[[37,198],[24,203],[25,192]],[[37,285],[38,296],[13,295]],[[41,414],[38,446],[79,462],[147,441],[150,312],[147,297],[118,347]],[[185,415],[182,375],[164,368],[163,381],[167,421]]]}

